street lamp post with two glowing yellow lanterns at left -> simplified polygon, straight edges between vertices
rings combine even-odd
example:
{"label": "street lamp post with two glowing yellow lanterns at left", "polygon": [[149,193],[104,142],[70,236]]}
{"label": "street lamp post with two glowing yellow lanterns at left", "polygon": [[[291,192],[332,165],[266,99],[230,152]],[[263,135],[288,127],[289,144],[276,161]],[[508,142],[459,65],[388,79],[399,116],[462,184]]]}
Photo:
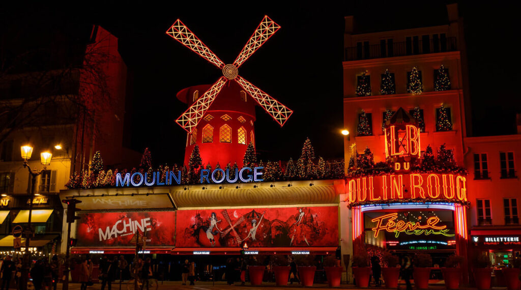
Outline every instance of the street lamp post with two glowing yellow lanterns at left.
{"label": "street lamp post with two glowing yellow lanterns at left", "polygon": [[42,174],[45,170],[45,168],[51,164],[51,158],[53,157],[53,154],[50,152],[42,152],[40,154],[41,162],[43,165],[43,169],[38,170],[31,170],[31,167],[27,163],[27,160],[29,160],[32,156],[33,147],[29,145],[24,145],[20,147],[22,159],[23,159],[23,167],[27,168],[29,171],[29,177],[31,178],[31,190],[29,191],[29,217],[27,220],[27,228],[23,231],[24,235],[26,236],[26,250],[23,255],[23,265],[22,265],[22,272],[21,272],[21,283],[20,283],[20,290],[26,290],[27,289],[27,282],[29,281],[29,269],[31,268],[30,263],[30,257],[29,257],[29,245],[31,242],[31,237],[33,235],[33,230],[31,226],[31,216],[32,216],[32,204],[33,204],[33,198],[34,198],[34,190],[36,187],[36,177],[40,174]]}

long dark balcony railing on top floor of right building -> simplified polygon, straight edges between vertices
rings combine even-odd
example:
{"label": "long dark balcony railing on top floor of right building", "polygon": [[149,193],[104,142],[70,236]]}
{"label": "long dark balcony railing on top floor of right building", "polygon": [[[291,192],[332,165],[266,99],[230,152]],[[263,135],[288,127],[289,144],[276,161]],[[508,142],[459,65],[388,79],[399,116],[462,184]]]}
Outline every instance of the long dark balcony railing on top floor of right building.
{"label": "long dark balcony railing on top floor of right building", "polygon": [[429,43],[425,43],[425,45],[423,41],[419,40],[416,42],[395,42],[392,43],[392,45],[386,43],[385,45],[375,44],[346,47],[344,51],[344,61],[454,51],[457,51],[456,37],[447,37],[444,40],[440,39],[438,43],[429,41]]}

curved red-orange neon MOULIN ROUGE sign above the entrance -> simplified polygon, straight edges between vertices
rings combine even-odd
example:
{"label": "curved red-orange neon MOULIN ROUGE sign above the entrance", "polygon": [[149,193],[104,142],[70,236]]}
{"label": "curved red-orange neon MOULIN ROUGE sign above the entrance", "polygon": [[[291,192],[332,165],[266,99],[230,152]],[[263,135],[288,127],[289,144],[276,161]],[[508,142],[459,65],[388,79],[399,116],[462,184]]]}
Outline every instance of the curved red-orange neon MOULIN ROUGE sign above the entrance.
{"label": "curved red-orange neon MOULIN ROUGE sign above the entrance", "polygon": [[[467,201],[467,179],[457,174],[383,174],[348,181],[349,203],[394,199]],[[377,191],[375,191],[377,188]]]}

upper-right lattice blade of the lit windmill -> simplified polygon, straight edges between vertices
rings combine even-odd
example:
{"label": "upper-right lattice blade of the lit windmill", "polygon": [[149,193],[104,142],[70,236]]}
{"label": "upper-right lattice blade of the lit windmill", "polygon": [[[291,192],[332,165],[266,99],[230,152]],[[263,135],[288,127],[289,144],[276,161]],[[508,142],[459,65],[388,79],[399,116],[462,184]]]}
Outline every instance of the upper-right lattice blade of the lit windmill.
{"label": "upper-right lattice blade of the lit windmill", "polygon": [[263,20],[257,26],[252,36],[242,48],[241,53],[237,59],[233,61],[235,67],[240,67],[246,59],[248,59],[259,47],[261,47],[271,35],[279,30],[280,26],[271,20],[268,16],[264,16]]}

